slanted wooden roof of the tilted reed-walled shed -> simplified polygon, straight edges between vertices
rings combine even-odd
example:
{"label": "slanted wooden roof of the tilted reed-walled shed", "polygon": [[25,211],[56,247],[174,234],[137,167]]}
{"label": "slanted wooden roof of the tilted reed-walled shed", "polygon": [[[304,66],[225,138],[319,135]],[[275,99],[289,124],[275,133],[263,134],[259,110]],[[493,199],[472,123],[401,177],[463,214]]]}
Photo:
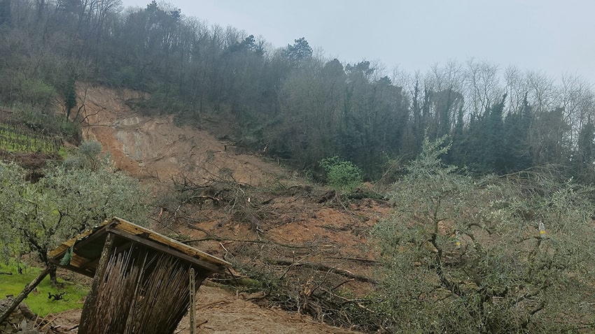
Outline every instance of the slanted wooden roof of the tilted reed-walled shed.
{"label": "slanted wooden roof of the tilted reed-walled shed", "polygon": [[[108,233],[116,235],[114,245],[120,249],[130,247],[132,244],[142,245],[155,252],[172,255],[210,273],[222,273],[225,268],[231,266],[223,259],[118,217],[108,219],[103,224],[62,242],[48,254],[48,257],[52,263],[76,273],[94,277]],[[70,259],[68,259],[69,256]]]}

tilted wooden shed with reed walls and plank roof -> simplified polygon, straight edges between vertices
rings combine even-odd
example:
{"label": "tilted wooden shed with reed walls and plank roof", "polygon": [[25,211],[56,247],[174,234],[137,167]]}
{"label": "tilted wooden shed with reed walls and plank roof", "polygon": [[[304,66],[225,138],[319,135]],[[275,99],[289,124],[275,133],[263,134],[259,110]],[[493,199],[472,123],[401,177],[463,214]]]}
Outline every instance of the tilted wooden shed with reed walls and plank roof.
{"label": "tilted wooden shed with reed walls and plank roof", "polygon": [[113,218],[50,252],[52,262],[93,278],[78,333],[174,333],[200,286],[229,263]]}

